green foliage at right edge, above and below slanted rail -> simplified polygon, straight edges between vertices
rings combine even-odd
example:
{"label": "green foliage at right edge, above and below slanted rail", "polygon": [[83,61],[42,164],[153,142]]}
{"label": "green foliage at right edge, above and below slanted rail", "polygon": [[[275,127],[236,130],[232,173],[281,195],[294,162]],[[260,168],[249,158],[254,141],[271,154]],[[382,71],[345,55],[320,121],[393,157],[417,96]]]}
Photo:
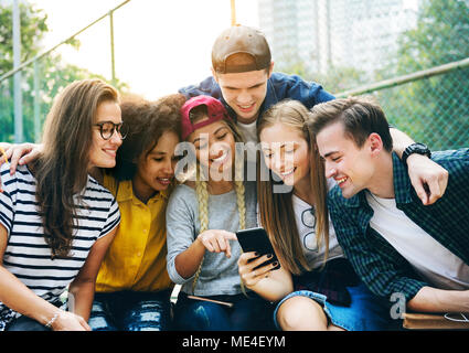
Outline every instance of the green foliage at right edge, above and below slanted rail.
{"label": "green foliage at right edge, above and below slanted rail", "polygon": [[[386,73],[395,76],[469,57],[467,0],[426,0],[417,26],[399,39]],[[458,69],[380,93],[390,120],[434,149],[469,140],[469,71]]]}

